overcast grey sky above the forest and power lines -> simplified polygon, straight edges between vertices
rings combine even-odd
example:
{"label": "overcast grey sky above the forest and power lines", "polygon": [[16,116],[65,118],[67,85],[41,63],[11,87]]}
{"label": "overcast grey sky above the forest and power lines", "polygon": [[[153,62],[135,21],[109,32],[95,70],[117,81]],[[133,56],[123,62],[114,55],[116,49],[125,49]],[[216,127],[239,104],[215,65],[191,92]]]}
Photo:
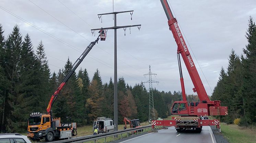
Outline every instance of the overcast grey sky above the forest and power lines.
{"label": "overcast grey sky above the forest and power lines", "polygon": [[[40,8],[38,8],[36,5]],[[22,20],[0,9],[0,23],[5,30],[5,37],[15,24],[20,26],[22,35],[29,33],[36,49],[40,40],[45,46],[51,72],[58,72],[64,67],[69,57],[74,62],[81,52],[96,37],[90,29],[112,27],[112,15],[104,15],[103,23],[97,14],[113,11],[112,0],[0,0],[2,8],[18,15],[33,25],[47,31],[55,37],[75,47],[74,49],[53,39],[45,33],[24,23]],[[228,55],[233,48],[238,55],[247,41],[245,31],[248,18],[256,19],[255,0],[214,0],[214,1],[172,1],[170,3],[180,27],[197,58],[210,87],[214,88],[218,81],[221,66],[228,66]],[[147,81],[143,74],[148,73],[149,65],[152,77],[159,81],[153,85],[158,90],[181,90],[177,64],[177,45],[171,31],[168,30],[167,18],[159,0],[114,0],[114,11],[134,10],[132,20],[129,13],[117,15],[117,25],[141,24],[126,30],[117,30],[118,77],[123,76],[129,85]],[[63,24],[62,24],[63,23]],[[66,25],[66,26],[65,26]],[[69,27],[69,28],[68,28]],[[71,29],[72,30],[71,30]],[[75,32],[74,32],[74,31]],[[79,34],[78,34],[79,33]],[[82,35],[82,36],[81,36]],[[187,43],[188,44],[188,43]],[[190,53],[192,53],[189,48]],[[89,56],[85,57],[80,67],[89,71],[92,78],[98,68],[102,81],[108,82],[114,76],[114,31],[108,30],[106,41],[100,41],[93,47]],[[212,91],[205,77],[195,63],[208,95]],[[183,77],[187,94],[194,93],[194,87],[182,61]],[[148,85],[146,85],[148,87]]]}

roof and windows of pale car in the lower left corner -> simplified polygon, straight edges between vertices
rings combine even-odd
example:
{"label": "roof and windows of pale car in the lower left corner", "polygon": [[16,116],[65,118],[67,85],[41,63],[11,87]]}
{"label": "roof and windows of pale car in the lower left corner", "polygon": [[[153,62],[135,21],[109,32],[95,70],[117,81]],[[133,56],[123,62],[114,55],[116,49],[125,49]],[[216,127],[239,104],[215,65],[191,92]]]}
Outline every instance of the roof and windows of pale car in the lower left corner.
{"label": "roof and windows of pale car in the lower left corner", "polygon": [[31,143],[27,136],[19,133],[0,134],[0,143]]}

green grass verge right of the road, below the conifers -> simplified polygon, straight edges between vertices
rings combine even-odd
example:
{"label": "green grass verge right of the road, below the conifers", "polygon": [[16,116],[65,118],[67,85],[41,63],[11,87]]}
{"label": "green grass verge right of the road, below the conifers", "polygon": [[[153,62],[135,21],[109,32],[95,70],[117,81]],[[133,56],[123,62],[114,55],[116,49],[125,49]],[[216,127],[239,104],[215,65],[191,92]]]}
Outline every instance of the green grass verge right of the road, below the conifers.
{"label": "green grass verge right of the road, below the conifers", "polygon": [[256,143],[256,129],[221,123],[221,132],[230,143]]}

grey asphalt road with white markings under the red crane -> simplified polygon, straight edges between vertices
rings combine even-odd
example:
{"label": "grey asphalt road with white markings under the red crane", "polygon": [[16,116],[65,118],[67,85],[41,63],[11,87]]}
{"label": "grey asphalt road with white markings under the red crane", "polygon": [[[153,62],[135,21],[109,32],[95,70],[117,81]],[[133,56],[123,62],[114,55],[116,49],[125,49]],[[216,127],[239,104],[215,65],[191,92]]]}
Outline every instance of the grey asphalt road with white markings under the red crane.
{"label": "grey asphalt road with white markings under the red crane", "polygon": [[186,131],[178,133],[174,127],[162,129],[158,132],[147,133],[139,137],[128,139],[120,143],[216,143],[215,137],[209,126],[203,126],[201,133]]}

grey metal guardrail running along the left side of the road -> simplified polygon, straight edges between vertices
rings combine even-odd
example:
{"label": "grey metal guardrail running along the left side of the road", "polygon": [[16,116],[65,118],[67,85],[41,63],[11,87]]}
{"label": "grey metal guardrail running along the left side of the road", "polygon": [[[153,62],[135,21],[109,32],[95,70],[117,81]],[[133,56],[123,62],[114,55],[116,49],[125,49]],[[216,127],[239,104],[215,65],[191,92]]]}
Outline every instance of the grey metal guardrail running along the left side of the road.
{"label": "grey metal guardrail running along the left side of the road", "polygon": [[138,127],[138,128],[131,128],[131,129],[125,129],[125,130],[119,130],[119,131],[113,131],[113,132],[108,132],[108,133],[101,133],[101,134],[96,134],[96,135],[88,135],[86,137],[78,137],[78,138],[73,138],[73,139],[68,139],[68,140],[62,140],[62,141],[54,141],[54,142],[50,142],[50,143],[83,143],[83,142],[88,142],[88,141],[96,141],[98,139],[102,139],[105,138],[105,142],[106,142],[106,138],[107,137],[113,137],[113,141],[115,141],[115,136],[121,134],[121,139],[122,134],[127,133],[127,137],[128,137],[128,133],[132,132],[132,136],[133,136],[133,132],[137,131],[137,134],[139,131],[142,131],[144,129],[148,129],[151,128],[152,125],[148,125],[148,126],[142,126],[142,127]]}

